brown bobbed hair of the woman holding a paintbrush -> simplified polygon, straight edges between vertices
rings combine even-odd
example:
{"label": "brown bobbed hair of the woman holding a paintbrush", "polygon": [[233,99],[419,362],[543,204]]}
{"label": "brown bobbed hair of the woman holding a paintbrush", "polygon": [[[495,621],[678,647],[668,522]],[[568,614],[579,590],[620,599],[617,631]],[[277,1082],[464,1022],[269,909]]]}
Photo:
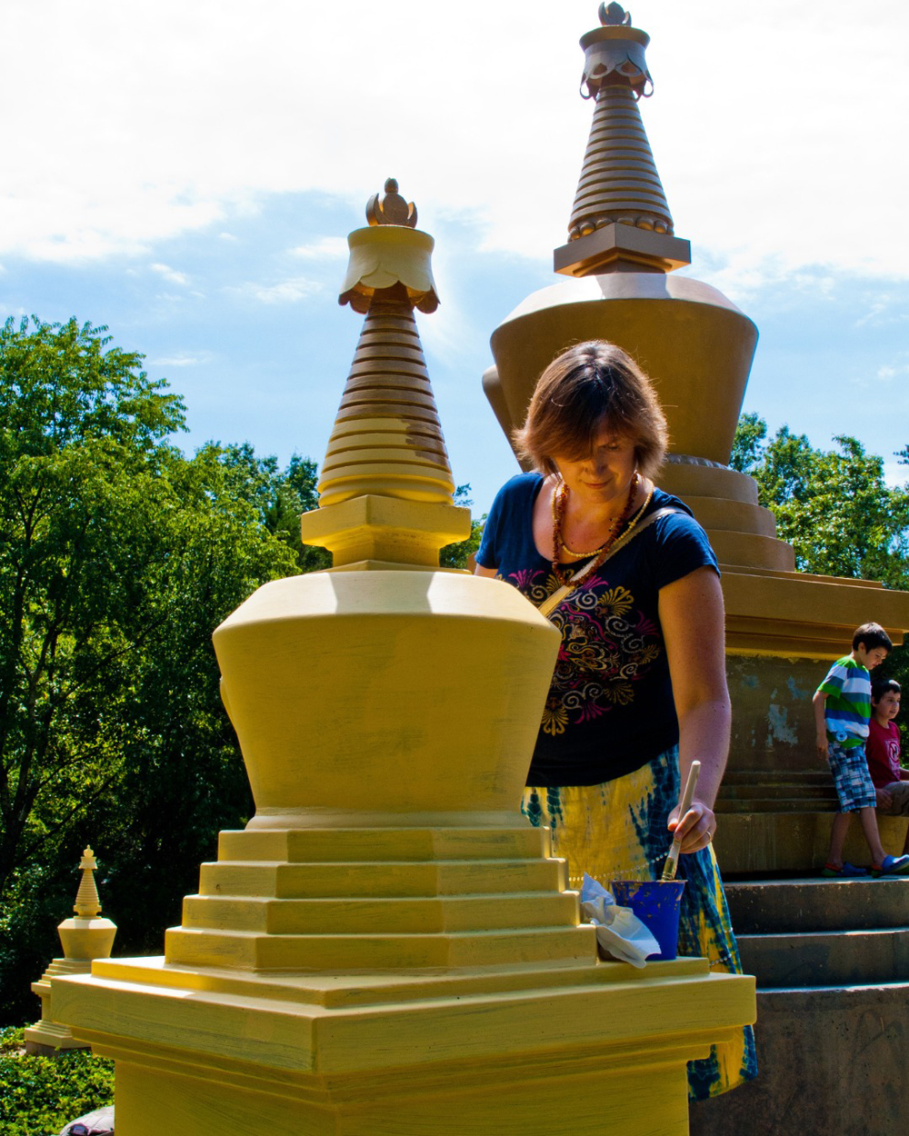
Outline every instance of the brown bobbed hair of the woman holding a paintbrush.
{"label": "brown bobbed hair of the woman holding a paintbrush", "polygon": [[577,461],[592,453],[603,426],[634,443],[644,477],[659,471],[669,437],[650,379],[622,348],[591,340],[562,351],[547,367],[512,438],[518,456],[545,476],[558,473],[556,454]]}

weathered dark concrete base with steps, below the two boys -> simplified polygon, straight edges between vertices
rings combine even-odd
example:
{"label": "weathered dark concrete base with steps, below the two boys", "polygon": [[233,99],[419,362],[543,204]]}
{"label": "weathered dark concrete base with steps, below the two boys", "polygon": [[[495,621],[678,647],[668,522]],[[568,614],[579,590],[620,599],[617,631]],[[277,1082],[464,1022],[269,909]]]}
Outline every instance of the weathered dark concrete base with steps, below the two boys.
{"label": "weathered dark concrete base with steps, below the two boys", "polygon": [[890,1136],[909,1127],[909,879],[731,884],[758,979],[760,1074],[692,1105],[692,1136]]}

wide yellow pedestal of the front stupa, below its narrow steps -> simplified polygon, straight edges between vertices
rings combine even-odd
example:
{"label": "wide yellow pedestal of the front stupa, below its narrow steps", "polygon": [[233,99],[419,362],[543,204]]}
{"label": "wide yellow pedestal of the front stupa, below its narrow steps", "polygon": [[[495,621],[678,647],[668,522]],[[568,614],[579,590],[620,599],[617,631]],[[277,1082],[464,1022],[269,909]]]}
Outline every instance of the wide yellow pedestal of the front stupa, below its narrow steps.
{"label": "wide yellow pedestal of the front stupa, below its narrow steps", "polygon": [[[117,1061],[119,1136],[687,1133],[685,1062],[753,1017],[704,959],[265,976],[119,959],[55,983]],[[709,1024],[709,1025],[708,1025]],[[553,1128],[554,1126],[554,1128]]]}

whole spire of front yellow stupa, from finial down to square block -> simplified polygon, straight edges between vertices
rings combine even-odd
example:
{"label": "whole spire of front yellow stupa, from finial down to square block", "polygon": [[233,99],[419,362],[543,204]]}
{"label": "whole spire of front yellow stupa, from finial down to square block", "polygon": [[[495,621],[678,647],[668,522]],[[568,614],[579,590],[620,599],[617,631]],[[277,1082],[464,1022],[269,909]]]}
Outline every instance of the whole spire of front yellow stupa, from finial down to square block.
{"label": "whole spire of front yellow stupa, from finial down to square block", "polygon": [[[331,549],[334,567],[437,568],[439,550],[469,534],[452,504],[454,482],[414,309],[439,307],[417,210],[398,192],[366,207],[350,234],[339,302],[366,320],[318,484],[319,509],[302,518],[305,544]],[[343,511],[339,511],[343,508]]]}

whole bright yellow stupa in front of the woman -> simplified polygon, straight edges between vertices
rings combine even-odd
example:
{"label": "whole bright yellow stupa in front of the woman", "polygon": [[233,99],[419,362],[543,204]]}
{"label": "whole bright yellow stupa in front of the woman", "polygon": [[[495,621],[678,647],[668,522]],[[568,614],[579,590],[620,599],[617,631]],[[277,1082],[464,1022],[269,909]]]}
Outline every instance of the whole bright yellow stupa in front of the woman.
{"label": "whole bright yellow stupa in front of the woman", "polygon": [[256,815],[162,958],[55,980],[53,1013],[116,1060],[118,1136],[682,1136],[685,1062],[753,1020],[753,979],[600,962],[520,816],[559,635],[437,567],[469,517],[412,318],[432,240],[398,197],[351,234],[366,321],[302,518],[335,563],[215,632]]}

